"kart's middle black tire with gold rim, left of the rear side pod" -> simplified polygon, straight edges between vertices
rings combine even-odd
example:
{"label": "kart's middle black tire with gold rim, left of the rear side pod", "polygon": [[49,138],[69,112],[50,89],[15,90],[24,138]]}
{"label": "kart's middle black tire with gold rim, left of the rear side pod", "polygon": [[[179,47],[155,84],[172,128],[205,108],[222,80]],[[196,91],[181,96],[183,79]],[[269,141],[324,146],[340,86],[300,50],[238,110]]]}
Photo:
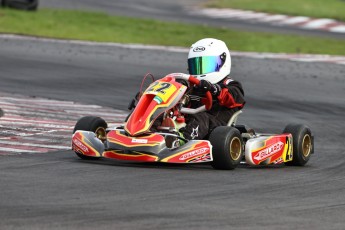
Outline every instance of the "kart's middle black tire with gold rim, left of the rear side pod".
{"label": "kart's middle black tire with gold rim, left of the rear side pod", "polygon": [[243,140],[238,129],[229,126],[215,128],[209,138],[213,149],[214,169],[234,169],[243,158]]}

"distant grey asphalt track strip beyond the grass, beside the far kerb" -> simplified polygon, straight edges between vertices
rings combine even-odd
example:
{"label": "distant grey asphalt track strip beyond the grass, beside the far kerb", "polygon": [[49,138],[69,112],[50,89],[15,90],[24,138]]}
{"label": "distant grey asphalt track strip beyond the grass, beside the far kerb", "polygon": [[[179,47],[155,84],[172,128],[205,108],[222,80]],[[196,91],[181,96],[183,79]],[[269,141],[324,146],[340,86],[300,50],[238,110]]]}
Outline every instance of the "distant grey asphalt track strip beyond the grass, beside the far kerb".
{"label": "distant grey asphalt track strip beyond the grass, beside the far kerb", "polygon": [[205,2],[207,2],[207,0],[40,0],[40,7],[100,11],[114,15],[155,18],[164,21],[194,23],[215,27],[234,28],[244,31],[273,32],[345,39],[345,34],[305,30],[294,26],[262,24],[255,21],[214,19],[205,16],[192,15],[190,13],[190,9],[195,10],[202,7]]}

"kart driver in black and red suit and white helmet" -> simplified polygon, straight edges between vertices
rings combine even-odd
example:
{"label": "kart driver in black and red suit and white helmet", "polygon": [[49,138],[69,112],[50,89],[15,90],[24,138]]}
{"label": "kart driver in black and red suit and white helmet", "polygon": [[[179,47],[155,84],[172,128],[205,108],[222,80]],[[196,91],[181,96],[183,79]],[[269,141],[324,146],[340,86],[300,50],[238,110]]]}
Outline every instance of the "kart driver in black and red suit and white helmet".
{"label": "kart driver in black and red suit and white helmet", "polygon": [[188,54],[188,71],[200,80],[193,89],[191,107],[200,106],[207,91],[213,97],[213,106],[207,112],[186,116],[186,126],[180,129],[185,139],[205,139],[217,126],[225,126],[232,115],[245,104],[240,82],[230,78],[231,56],[226,44],[205,38],[192,45]]}

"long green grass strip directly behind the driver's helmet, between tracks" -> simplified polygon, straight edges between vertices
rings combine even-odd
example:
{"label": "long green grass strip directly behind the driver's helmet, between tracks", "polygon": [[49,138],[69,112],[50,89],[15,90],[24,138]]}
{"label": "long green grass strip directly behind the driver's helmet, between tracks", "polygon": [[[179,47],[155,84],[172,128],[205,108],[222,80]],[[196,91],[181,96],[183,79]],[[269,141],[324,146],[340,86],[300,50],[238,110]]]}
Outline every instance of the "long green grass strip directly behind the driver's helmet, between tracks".
{"label": "long green grass strip directly behind the driver's helmet, between tracks", "polygon": [[231,50],[238,51],[345,54],[343,40],[243,32],[66,10],[25,12],[2,9],[0,33],[184,47],[201,38],[215,37],[224,40]]}

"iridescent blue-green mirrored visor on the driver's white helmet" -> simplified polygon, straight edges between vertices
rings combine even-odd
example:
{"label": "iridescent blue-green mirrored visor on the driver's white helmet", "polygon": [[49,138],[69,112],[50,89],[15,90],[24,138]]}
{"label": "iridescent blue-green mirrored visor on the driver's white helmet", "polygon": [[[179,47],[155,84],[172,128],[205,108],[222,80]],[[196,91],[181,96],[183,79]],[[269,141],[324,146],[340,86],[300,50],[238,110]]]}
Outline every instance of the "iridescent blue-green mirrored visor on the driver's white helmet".
{"label": "iridescent blue-green mirrored visor on the driver's white helmet", "polygon": [[191,75],[218,72],[223,65],[220,56],[203,56],[188,59],[188,70]]}

